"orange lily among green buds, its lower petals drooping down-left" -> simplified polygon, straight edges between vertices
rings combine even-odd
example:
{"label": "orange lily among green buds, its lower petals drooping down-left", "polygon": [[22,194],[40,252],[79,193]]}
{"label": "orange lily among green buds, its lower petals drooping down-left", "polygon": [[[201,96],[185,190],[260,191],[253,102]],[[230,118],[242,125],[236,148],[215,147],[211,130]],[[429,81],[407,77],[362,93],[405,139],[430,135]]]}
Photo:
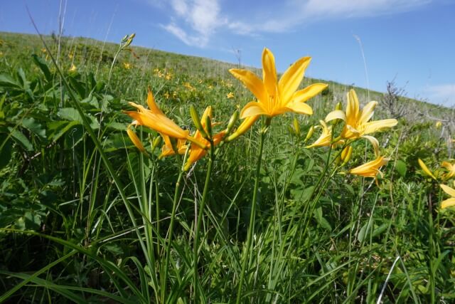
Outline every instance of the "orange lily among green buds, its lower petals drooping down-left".
{"label": "orange lily among green buds, its lower petals drooping down-left", "polygon": [[[205,133],[208,134],[208,127],[205,124],[207,117],[212,118],[212,107],[210,107],[210,106],[205,108],[205,111],[204,111],[202,117],[200,117],[200,124],[202,125],[203,129],[205,130]],[[213,123],[212,126],[213,125],[216,125],[216,124]],[[214,135],[212,137],[213,145],[215,145],[215,146],[218,145],[221,142],[221,140],[223,140],[224,136],[225,136],[225,131],[221,131],[218,134]],[[205,154],[207,154],[207,150],[208,150],[208,148],[210,148],[210,142],[208,140],[206,140],[202,134],[200,134],[199,130],[196,130],[196,133],[194,134],[194,138],[196,140],[198,140],[198,142],[202,142],[205,147],[201,148],[195,144],[191,145],[190,154],[188,155],[188,159],[186,161],[185,167],[183,168],[185,171],[190,169],[191,165],[194,162],[197,162]]]}

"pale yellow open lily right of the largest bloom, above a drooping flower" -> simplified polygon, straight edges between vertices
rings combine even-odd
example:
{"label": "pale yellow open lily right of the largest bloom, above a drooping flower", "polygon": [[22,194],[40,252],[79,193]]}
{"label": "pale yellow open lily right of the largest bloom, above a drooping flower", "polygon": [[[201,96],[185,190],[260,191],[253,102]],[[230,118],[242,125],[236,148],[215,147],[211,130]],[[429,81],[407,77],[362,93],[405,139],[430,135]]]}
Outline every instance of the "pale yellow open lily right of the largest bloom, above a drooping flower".
{"label": "pale yellow open lily right of the largest bloom, above a drooping flower", "polygon": [[[364,135],[382,130],[387,127],[394,127],[398,121],[395,119],[376,120],[368,122],[373,116],[374,110],[378,102],[370,101],[363,110],[360,111],[357,94],[355,90],[349,90],[348,105],[346,106],[346,113],[343,110],[334,110],[326,116],[326,122],[335,119],[341,119],[346,122],[341,132],[341,137],[346,139],[358,139]],[[369,138],[367,138],[370,140]],[[372,142],[373,143],[373,142]],[[375,145],[375,143],[373,143]]]}

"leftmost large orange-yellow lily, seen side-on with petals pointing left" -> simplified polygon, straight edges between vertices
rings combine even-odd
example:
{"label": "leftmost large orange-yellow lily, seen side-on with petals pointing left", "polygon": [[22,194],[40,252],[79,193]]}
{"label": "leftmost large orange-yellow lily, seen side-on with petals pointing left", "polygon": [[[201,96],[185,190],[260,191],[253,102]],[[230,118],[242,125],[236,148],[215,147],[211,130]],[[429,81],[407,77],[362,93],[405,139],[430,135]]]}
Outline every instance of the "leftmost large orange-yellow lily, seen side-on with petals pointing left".
{"label": "leftmost large orange-yellow lily, seen side-on with petals pointing left", "polygon": [[175,122],[164,115],[158,108],[158,105],[156,105],[151,90],[149,90],[149,94],[147,95],[147,104],[149,105],[150,110],[147,110],[142,105],[137,105],[136,103],[130,102],[129,104],[134,108],[137,108],[138,111],[125,111],[125,113],[136,120],[137,125],[144,125],[163,135],[181,140],[189,140],[200,147],[205,147],[201,142],[198,142],[198,140],[191,137],[188,130],[181,129]]}

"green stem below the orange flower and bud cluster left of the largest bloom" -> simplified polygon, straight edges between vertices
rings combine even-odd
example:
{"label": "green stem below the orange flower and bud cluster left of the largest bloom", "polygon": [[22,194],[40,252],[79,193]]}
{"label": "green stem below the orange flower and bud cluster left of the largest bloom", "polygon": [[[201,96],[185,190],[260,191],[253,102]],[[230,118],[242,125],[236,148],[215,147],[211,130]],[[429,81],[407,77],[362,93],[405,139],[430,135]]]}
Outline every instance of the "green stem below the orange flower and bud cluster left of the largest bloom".
{"label": "green stem below the orange flower and bud cluster left of the largest bloom", "polygon": [[[198,302],[198,256],[199,256],[199,231],[200,231],[200,225],[202,224],[202,219],[203,219],[203,211],[204,211],[204,206],[205,206],[205,200],[207,198],[207,193],[208,193],[208,185],[210,184],[210,175],[212,174],[212,168],[213,168],[213,161],[215,159],[215,152],[214,152],[214,147],[213,147],[213,142],[210,142],[210,158],[208,159],[208,167],[207,167],[207,174],[205,175],[205,184],[204,184],[204,190],[202,194],[202,199],[200,199],[200,206],[199,206],[199,211],[198,211],[198,219],[196,219],[197,224],[196,224],[196,230],[194,231],[194,248],[193,248],[193,267],[194,267],[194,273],[193,273],[193,286],[194,286],[194,303],[199,303]],[[195,202],[196,203],[196,202]]]}

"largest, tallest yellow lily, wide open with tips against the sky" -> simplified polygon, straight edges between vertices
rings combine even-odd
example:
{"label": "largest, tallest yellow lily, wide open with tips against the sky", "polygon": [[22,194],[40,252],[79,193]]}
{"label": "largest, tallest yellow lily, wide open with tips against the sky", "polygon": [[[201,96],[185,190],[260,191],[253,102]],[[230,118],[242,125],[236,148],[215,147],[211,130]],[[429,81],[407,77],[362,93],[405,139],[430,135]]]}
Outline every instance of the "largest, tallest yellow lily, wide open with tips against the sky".
{"label": "largest, tallest yellow lily, wide open with tips against the sky", "polygon": [[297,90],[304,78],[310,57],[300,58],[277,80],[275,59],[269,49],[262,52],[262,80],[249,70],[232,68],[230,73],[240,80],[255,95],[257,102],[247,103],[240,113],[241,118],[257,115],[274,117],[284,112],[297,112],[311,115],[313,110],[305,102],[327,88],[326,84],[316,83],[303,90]]}

